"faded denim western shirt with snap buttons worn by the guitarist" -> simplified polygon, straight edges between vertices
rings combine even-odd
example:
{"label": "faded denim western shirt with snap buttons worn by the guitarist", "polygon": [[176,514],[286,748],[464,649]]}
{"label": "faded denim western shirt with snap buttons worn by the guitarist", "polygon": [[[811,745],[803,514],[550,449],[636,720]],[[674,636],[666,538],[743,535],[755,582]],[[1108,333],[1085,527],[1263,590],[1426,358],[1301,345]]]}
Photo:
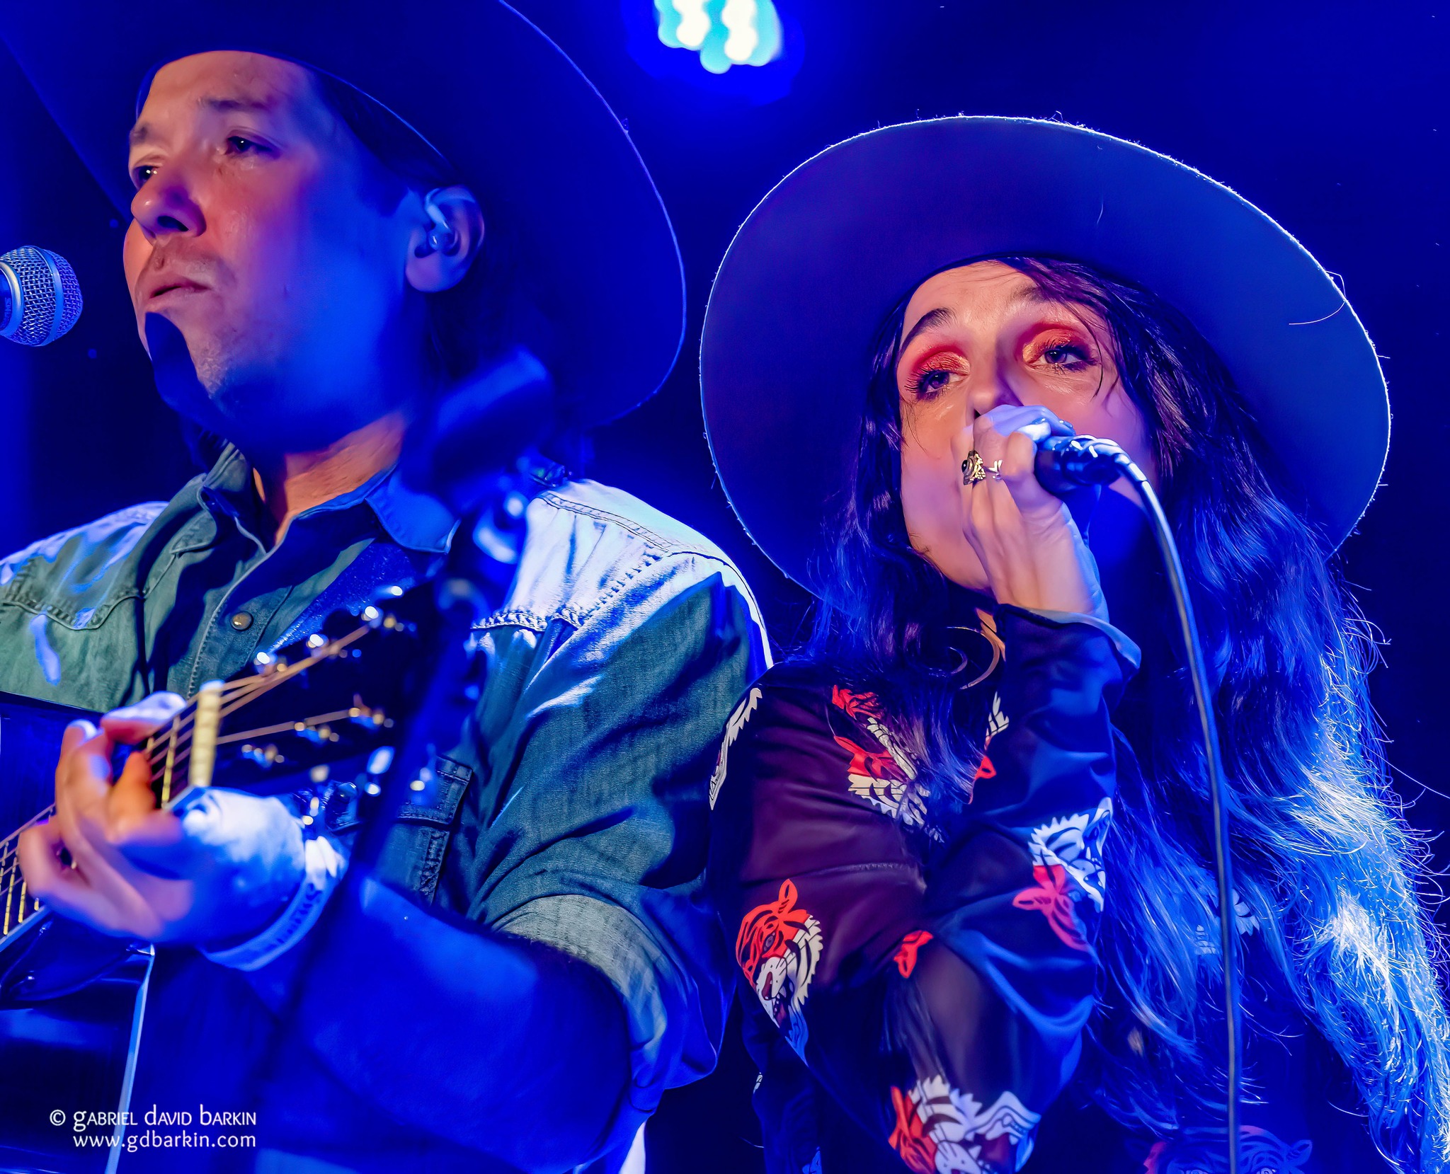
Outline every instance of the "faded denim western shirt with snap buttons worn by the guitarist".
{"label": "faded denim western shirt with snap buttons worn by the guitarist", "polygon": [[[90,710],[187,696],[296,638],[348,568],[426,575],[454,526],[393,471],[299,515],[270,549],[260,509],[248,462],[228,449],[168,503],[0,562],[0,690]],[[528,504],[512,586],[473,639],[486,675],[471,728],[434,802],[393,828],[380,873],[615,986],[632,1090],[609,1146],[626,1144],[664,1088],[710,1071],[724,1029],[724,949],[700,887],[706,787],[731,704],[768,664],[758,609],[700,535],[619,490],[561,481]],[[193,949],[170,952],[158,975],[186,997],[165,1006],[190,1019],[165,1023],[154,980],[138,1096],[165,1094],[168,1067],[222,1074],[254,1058],[260,1029],[236,1020],[260,1004],[233,1006],[245,983]],[[360,1139],[355,1126],[338,1135]]]}

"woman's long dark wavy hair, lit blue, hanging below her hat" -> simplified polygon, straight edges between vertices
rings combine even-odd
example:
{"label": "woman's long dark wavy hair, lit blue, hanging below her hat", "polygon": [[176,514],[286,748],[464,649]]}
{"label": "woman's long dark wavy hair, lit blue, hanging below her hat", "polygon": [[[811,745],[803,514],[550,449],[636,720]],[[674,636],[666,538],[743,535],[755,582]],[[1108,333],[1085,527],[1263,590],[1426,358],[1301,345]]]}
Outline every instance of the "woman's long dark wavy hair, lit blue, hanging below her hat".
{"label": "woman's long dark wavy hair, lit blue, hanging below her hat", "polygon": [[[1421,903],[1425,849],[1388,786],[1366,686],[1375,645],[1333,544],[1182,315],[1086,265],[990,259],[1108,325],[1105,344],[1147,425],[1214,675],[1237,897],[1270,959],[1269,974],[1250,977],[1288,990],[1338,1054],[1380,1151],[1402,1170],[1441,1170],[1450,1022],[1443,951]],[[932,794],[960,794],[980,757],[972,694],[982,690],[964,688],[941,654],[941,632],[958,619],[951,588],[912,549],[902,516],[905,306],[882,328],[854,490],[821,568],[832,587],[806,654],[877,683]],[[1161,607],[1167,633],[1166,596]],[[1079,1074],[1114,1117],[1159,1136],[1221,1104],[1224,1087],[1221,962],[1185,933],[1212,926],[1217,909],[1202,749],[1176,648],[1167,636],[1146,644],[1137,703],[1118,717],[1143,783],[1121,788],[1103,848],[1102,990]]]}

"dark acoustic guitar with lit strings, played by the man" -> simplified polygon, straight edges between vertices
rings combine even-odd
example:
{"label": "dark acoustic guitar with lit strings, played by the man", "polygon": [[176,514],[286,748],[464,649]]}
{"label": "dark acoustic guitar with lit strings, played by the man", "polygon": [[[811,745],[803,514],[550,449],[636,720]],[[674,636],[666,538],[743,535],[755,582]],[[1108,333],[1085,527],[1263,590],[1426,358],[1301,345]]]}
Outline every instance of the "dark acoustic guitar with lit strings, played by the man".
{"label": "dark acoustic guitar with lit strings, played by the man", "polygon": [[[210,716],[193,699],[145,748],[158,802],[216,784],[289,796],[300,813],[339,797],[367,807],[393,757],[389,715],[426,659],[418,626],[397,612],[335,613],[322,632],[203,688]],[[0,694],[0,1174],[103,1174],[126,1132],[154,951],[39,907],[14,857],[17,830],[54,800],[67,723],[94,716]],[[193,758],[206,762],[202,781]],[[117,1115],[119,1128],[97,1113]],[[77,1145],[102,1135],[116,1142]]]}

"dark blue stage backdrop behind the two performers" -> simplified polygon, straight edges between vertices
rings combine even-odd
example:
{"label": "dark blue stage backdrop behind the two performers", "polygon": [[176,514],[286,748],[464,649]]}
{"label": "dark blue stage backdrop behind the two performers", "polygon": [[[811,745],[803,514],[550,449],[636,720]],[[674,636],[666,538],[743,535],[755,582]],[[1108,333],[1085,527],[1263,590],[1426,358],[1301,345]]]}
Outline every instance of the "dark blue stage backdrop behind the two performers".
{"label": "dark blue stage backdrop behind the two performers", "polygon": [[[1440,764],[1450,6],[776,0],[799,25],[803,57],[787,96],[751,104],[724,86],[645,72],[626,51],[629,12],[619,0],[516,3],[628,120],[684,251],[690,330],[680,365],[652,403],[599,435],[593,475],[735,555],[779,644],[798,632],[805,600],[751,548],[713,481],[695,359],[709,280],[732,230],[795,164],[851,133],[916,116],[1060,116],[1174,155],[1286,225],[1343,275],[1389,377],[1389,468],[1344,546],[1344,565],[1383,633],[1375,699],[1396,786],[1415,825],[1436,833],[1446,826],[1450,802],[1436,791],[1450,786]],[[648,19],[650,0],[629,7]],[[416,32],[445,52],[447,9],[438,19],[420,16]],[[193,470],[135,338],[120,274],[125,225],[3,49],[0,159],[0,251],[36,243],[62,252],[87,297],[80,325],[61,342],[33,352],[0,344],[0,546],[14,549],[107,510],[170,497]],[[1356,420],[1341,422],[1346,446],[1357,435]],[[761,444],[777,445],[787,461],[792,439]],[[1436,855],[1450,859],[1438,841]],[[729,1054],[719,1078],[674,1094],[652,1168],[758,1167],[740,1141],[750,1078],[745,1061]]]}

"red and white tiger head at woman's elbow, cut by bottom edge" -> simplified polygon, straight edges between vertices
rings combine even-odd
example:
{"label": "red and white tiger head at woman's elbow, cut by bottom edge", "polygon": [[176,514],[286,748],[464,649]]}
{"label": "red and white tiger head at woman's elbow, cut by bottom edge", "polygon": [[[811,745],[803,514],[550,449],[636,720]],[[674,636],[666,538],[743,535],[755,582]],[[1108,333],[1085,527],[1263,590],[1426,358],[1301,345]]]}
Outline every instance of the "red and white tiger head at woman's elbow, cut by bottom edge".
{"label": "red and white tiger head at woman's elbow, cut by bottom edge", "polygon": [[914,1174],[998,1174],[1015,1171],[1031,1149],[1038,1116],[1012,1093],[983,1109],[935,1075],[909,1093],[892,1088],[896,1125],[887,1142]]}

